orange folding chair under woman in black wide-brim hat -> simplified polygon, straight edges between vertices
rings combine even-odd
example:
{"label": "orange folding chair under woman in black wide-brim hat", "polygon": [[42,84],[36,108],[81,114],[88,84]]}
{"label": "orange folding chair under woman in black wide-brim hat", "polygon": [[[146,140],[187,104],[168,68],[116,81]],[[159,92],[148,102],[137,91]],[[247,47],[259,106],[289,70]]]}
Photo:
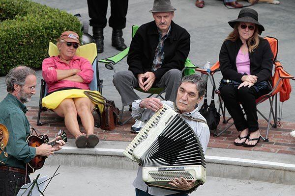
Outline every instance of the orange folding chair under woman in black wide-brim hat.
{"label": "orange folding chair under woman in black wide-brim hat", "polygon": [[[269,42],[270,44],[270,48],[272,50],[273,53],[273,64],[276,65],[276,67],[279,64],[279,61],[276,60],[277,58],[277,52],[278,52],[278,40],[276,38],[273,37],[265,37],[265,39]],[[203,70],[200,68],[195,69],[197,72],[201,72],[204,74],[207,74],[209,76],[210,82],[213,86],[213,88],[215,89],[215,93],[218,95],[218,99],[219,99],[219,108],[218,108],[218,112],[220,113],[220,110],[222,112],[222,117],[223,117],[223,123],[228,123],[229,120],[232,119],[232,117],[230,117],[229,119],[226,120],[225,117],[225,105],[222,104],[222,98],[220,96],[220,91],[216,88],[215,85],[215,80],[214,80],[214,73],[220,71],[219,69],[219,61],[217,61],[211,68],[210,70]],[[284,74],[278,74],[276,72],[278,71],[283,72]],[[292,75],[290,75],[289,73],[285,72],[283,70],[283,68],[280,65],[280,69],[276,68],[275,69],[275,73],[274,75],[277,75],[276,80],[273,80],[273,77],[270,78],[271,83],[269,83],[270,87],[271,87],[271,91],[266,94],[261,96],[260,98],[256,99],[256,105],[264,102],[265,100],[269,100],[269,114],[268,114],[268,118],[266,118],[258,109],[257,112],[267,121],[267,130],[266,130],[266,137],[262,137],[263,140],[265,142],[268,142],[268,131],[269,131],[269,126],[271,125],[272,127],[276,128],[277,127],[277,93],[280,92],[280,87],[282,86],[282,82],[283,80],[289,80],[289,79],[294,79],[294,77]],[[273,102],[275,99],[275,110],[273,109]],[[271,116],[273,118],[274,123],[270,123],[271,120]],[[229,127],[231,127],[234,123],[231,123],[229,126],[227,126],[224,130],[222,130],[221,132],[217,132],[217,129],[214,130],[214,137],[218,137],[220,136],[222,133],[224,133]]]}

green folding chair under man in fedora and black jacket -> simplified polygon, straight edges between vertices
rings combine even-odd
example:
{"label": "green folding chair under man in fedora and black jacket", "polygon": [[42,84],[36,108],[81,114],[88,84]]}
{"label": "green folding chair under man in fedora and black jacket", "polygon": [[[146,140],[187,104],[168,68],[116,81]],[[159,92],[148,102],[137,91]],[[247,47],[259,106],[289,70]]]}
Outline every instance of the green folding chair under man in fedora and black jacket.
{"label": "green folding chair under man in fedora and black jacket", "polygon": [[[139,28],[138,25],[133,25],[132,26],[132,38],[134,37],[134,35],[135,35],[138,28]],[[98,60],[98,62],[105,63],[105,67],[107,69],[113,70],[114,73],[116,73],[116,70],[115,70],[114,66],[119,61],[121,61],[123,58],[125,58],[128,55],[128,52],[129,52],[129,47],[127,49],[124,49],[120,53],[116,54],[115,56]],[[184,69],[182,70],[182,74],[183,75],[193,74],[193,73],[195,73],[196,68],[198,68],[198,67],[195,66],[194,64],[192,64],[189,59],[186,59],[186,61],[184,63]],[[156,95],[155,96],[156,98],[160,97],[160,98],[162,98],[164,100],[164,98],[162,97],[162,94],[165,93],[164,88],[154,87],[154,88],[149,89],[147,92],[143,91],[141,88],[135,88],[135,90],[143,92],[143,93],[150,94],[147,98],[150,98],[151,96]],[[120,117],[119,117],[119,124],[120,125],[123,125],[123,124],[127,123],[128,121],[130,121],[132,119],[132,117],[130,117],[127,120],[125,120],[124,122],[122,122],[122,115],[123,115],[124,107],[125,106],[122,105],[122,109],[120,111]],[[129,108],[129,111],[130,110],[131,110],[131,108]]]}

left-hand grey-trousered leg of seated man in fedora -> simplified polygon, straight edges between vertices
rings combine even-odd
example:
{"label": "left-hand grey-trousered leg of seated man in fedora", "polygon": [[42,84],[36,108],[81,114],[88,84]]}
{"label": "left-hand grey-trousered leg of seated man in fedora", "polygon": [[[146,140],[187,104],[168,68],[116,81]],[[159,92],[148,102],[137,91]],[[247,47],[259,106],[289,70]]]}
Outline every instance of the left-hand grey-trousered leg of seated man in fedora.
{"label": "left-hand grey-trousered leg of seated man in fedora", "polygon": [[124,106],[130,105],[136,99],[140,99],[133,89],[139,87],[138,79],[131,71],[127,70],[116,73],[113,83],[121,96]]}

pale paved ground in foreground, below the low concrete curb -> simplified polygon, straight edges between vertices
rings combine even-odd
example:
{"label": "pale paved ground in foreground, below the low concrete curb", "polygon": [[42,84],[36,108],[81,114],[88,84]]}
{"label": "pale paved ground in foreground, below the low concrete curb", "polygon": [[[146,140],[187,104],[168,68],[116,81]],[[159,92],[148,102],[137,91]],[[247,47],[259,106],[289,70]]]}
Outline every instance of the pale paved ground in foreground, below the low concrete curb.
{"label": "pale paved ground in foreground, below the low concrete curb", "polygon": [[[45,166],[39,172],[41,176],[51,176],[56,169],[57,166]],[[135,195],[132,182],[136,171],[62,166],[59,172],[45,196],[82,196],[86,193],[88,196]],[[207,182],[190,196],[294,196],[294,190],[294,185],[207,176]]]}

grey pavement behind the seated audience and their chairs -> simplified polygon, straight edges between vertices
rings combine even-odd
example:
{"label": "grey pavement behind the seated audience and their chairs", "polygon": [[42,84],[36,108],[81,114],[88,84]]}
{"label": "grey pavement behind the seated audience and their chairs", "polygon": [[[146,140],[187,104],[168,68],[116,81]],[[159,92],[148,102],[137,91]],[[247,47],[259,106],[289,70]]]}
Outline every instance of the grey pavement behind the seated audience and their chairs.
{"label": "grey pavement behind the seated audience and their chairs", "polygon": [[[34,0],[42,4],[49,5],[54,8],[66,10],[69,13],[81,13],[82,18],[89,20],[87,0]],[[206,6],[199,9],[194,5],[195,0],[172,0],[173,5],[177,8],[174,21],[185,27],[191,34],[191,50],[189,58],[196,65],[203,66],[206,61],[214,63],[218,60],[219,50],[222,40],[228,35],[232,28],[227,24],[228,21],[236,19],[239,9],[227,9],[221,1],[206,0]],[[246,4],[246,2],[244,2]],[[152,0],[129,0],[126,28],[123,30],[126,44],[131,41],[131,26],[141,25],[152,20],[151,14],[148,12],[152,8]],[[295,23],[295,3],[294,0],[281,0],[280,5],[272,5],[267,3],[259,3],[252,6],[259,12],[259,21],[266,28],[263,36],[273,36],[279,39],[278,59],[282,62],[286,70],[295,74],[293,64],[295,62],[294,55],[294,29]],[[110,16],[110,7],[107,17]],[[114,55],[118,51],[111,46],[112,29],[107,25],[105,28],[105,52],[99,54],[98,58],[105,58]],[[89,33],[92,34],[91,27]],[[126,70],[126,59],[118,63],[117,70]],[[103,95],[107,98],[114,99],[117,106],[121,107],[120,97],[112,83],[113,72],[106,70],[101,65],[100,76],[104,79]],[[38,72],[38,82],[41,73]],[[219,81],[220,74],[216,74]],[[293,88],[295,83],[291,83]],[[210,88],[208,87],[208,92]],[[4,77],[0,77],[0,100],[5,97]],[[141,94],[142,95],[142,94]],[[216,98],[215,98],[216,100]],[[39,88],[37,88],[37,96],[32,98],[29,103],[31,106],[37,106],[39,101]],[[291,93],[290,100],[284,103],[283,120],[295,122],[294,92]],[[259,108],[266,114],[268,112],[267,102],[263,103]],[[261,118],[261,117],[259,117]]]}

